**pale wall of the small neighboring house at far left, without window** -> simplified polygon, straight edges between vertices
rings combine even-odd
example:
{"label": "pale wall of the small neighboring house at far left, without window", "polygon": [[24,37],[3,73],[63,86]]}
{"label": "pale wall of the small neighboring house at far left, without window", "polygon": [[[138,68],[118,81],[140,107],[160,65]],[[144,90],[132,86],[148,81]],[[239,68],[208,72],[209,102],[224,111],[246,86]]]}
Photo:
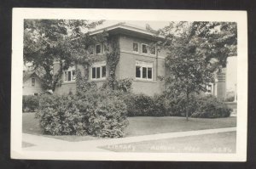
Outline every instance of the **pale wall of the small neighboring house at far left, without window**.
{"label": "pale wall of the small neighboring house at far left, without window", "polygon": [[[32,77],[36,78],[35,86],[32,86]],[[22,93],[23,95],[34,95],[34,93],[43,93],[43,89],[41,86],[40,81],[38,80],[38,77],[32,76],[26,80],[26,82],[23,82],[23,89]]]}

